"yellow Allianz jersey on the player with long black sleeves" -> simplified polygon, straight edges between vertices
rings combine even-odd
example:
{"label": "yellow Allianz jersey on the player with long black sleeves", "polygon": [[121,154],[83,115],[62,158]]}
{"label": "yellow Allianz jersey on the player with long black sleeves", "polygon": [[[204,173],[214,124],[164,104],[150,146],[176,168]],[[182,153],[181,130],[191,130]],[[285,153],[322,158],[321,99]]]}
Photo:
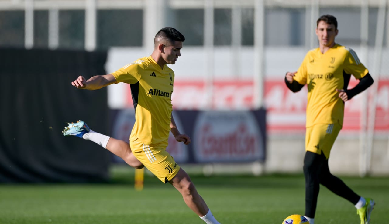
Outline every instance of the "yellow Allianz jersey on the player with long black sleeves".
{"label": "yellow Allianz jersey on the player with long black sleeves", "polygon": [[356,53],[336,44],[324,54],[320,48],[310,50],[294,76],[300,84],[308,84],[307,123],[343,126],[344,103],[336,89],[347,89],[350,75],[363,78],[369,71]]}

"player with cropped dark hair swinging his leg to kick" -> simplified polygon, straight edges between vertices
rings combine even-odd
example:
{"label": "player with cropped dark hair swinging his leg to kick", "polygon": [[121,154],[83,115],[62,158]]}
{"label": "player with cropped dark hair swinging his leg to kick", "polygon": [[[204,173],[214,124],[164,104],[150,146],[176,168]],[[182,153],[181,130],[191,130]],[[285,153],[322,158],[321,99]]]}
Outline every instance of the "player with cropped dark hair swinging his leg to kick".
{"label": "player with cropped dark hair swinging his leg to kick", "polygon": [[172,115],[174,72],[166,64],[175,64],[181,56],[185,37],[176,29],[165,27],[154,38],[154,51],[125,65],[121,69],[86,80],[79,76],[72,85],[79,89],[97,90],[113,83],[128,83],[135,107],[135,124],[130,145],[125,141],[91,131],[83,121],[70,123],[63,135],[74,135],[94,141],[121,157],[127,164],[140,169],[146,167],[163,183],[172,184],[182,195],[186,205],[203,221],[219,224],[203,198],[198,194],[189,175],[166,152],[171,131],[177,141],[191,143],[186,134],[177,129]]}

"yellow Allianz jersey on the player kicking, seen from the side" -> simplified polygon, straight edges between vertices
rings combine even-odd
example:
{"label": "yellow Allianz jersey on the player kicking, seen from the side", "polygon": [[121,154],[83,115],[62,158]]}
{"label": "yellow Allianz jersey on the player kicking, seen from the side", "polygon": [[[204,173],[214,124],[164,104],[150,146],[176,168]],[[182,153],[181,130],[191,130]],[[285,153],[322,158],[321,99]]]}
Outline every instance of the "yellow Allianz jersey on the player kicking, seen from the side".
{"label": "yellow Allianz jersey on the player kicking, seen from the side", "polygon": [[117,83],[131,84],[135,124],[130,140],[146,145],[167,141],[172,114],[174,72],[151,56],[143,57],[112,73]]}

